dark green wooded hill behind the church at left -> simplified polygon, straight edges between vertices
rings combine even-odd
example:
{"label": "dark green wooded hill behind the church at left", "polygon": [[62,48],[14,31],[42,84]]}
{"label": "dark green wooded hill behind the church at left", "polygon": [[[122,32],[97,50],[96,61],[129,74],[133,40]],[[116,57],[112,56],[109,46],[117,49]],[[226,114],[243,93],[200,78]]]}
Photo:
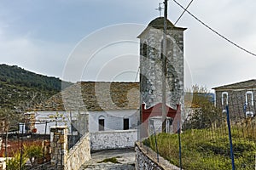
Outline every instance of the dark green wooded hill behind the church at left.
{"label": "dark green wooded hill behind the church at left", "polygon": [[26,71],[17,65],[0,65],[0,107],[27,111],[67,88],[71,82]]}

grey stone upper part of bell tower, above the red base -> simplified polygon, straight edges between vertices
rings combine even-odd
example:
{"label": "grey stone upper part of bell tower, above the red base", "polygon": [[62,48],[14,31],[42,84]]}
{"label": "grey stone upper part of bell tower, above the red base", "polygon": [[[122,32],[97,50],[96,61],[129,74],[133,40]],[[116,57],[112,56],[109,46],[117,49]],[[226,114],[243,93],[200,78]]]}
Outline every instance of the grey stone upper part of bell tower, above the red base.
{"label": "grey stone upper part of bell tower, above the red base", "polygon": [[163,53],[164,17],[152,20],[140,39],[140,91],[146,109],[162,101],[162,60],[166,59],[166,106],[183,110],[183,31],[166,20],[166,54]]}

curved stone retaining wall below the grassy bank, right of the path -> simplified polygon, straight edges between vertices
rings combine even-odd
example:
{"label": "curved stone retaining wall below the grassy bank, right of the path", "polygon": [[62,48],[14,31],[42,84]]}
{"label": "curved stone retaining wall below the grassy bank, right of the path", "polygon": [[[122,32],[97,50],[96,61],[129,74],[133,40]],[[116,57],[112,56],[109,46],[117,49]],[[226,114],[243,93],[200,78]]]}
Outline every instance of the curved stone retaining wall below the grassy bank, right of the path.
{"label": "curved stone retaining wall below the grassy bank, right of the path", "polygon": [[172,165],[169,161],[166,161],[161,156],[159,156],[159,161],[157,161],[157,154],[143,144],[136,143],[135,150],[136,150],[135,167],[137,170],[144,170],[144,169],[178,170],[180,169],[179,167]]}

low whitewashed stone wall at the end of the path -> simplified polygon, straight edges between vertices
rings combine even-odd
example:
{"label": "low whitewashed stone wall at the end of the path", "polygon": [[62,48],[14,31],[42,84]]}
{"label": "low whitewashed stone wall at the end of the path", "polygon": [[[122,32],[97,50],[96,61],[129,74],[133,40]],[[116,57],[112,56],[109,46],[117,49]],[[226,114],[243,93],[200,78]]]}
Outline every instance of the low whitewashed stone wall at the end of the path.
{"label": "low whitewashed stone wall at the end of the path", "polygon": [[90,150],[109,150],[134,147],[137,130],[100,131],[90,133]]}

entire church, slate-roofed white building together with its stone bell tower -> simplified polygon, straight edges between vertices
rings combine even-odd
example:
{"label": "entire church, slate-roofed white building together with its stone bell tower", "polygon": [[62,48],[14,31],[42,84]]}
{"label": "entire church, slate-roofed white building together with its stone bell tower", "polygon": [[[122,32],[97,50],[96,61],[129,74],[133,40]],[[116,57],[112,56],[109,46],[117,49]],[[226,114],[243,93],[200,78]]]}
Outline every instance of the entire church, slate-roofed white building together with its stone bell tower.
{"label": "entire church, slate-roofed white building together with its stone bell tower", "polygon": [[[174,26],[170,20],[166,21],[166,28],[165,35],[164,17],[158,17],[138,36],[139,83],[77,82],[39,105],[36,119],[41,117],[42,120],[36,121],[47,121],[49,116],[55,115],[57,111],[66,118],[69,129],[76,127],[79,132],[89,132],[91,145],[100,144],[102,141],[100,149],[104,149],[102,146],[107,145],[106,138],[115,134],[115,139],[108,138],[113,147],[119,143],[120,147],[126,147],[128,139],[129,146],[133,146],[137,137],[142,139],[153,132],[161,132],[164,103],[162,99],[165,95],[166,132],[177,133],[184,105],[183,31],[186,29]],[[166,60],[164,73],[163,60]],[[84,118],[81,119],[79,116]],[[86,121],[83,122],[84,119]],[[79,122],[79,125],[76,126],[74,122]],[[40,133],[40,128],[36,128]],[[45,129],[49,132],[49,124],[43,128],[43,133]],[[124,142],[120,142],[122,139]]]}

